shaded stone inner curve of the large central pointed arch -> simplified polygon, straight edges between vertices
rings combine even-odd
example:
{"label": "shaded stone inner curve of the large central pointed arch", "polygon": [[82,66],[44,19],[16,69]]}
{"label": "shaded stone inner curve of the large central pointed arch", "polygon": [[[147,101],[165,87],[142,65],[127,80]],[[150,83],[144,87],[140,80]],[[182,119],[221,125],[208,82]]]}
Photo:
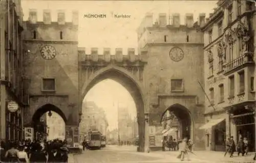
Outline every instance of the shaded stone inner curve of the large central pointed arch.
{"label": "shaded stone inner curve of the large central pointed arch", "polygon": [[133,74],[126,71],[124,68],[109,66],[100,69],[95,74],[91,75],[89,80],[86,81],[82,87],[82,98],[87,95],[87,92],[97,83],[105,80],[112,79],[125,87],[133,97],[137,109],[137,122],[139,133],[139,151],[144,151],[145,146],[145,118],[144,118],[144,99],[142,94],[142,86],[140,82],[133,78]]}

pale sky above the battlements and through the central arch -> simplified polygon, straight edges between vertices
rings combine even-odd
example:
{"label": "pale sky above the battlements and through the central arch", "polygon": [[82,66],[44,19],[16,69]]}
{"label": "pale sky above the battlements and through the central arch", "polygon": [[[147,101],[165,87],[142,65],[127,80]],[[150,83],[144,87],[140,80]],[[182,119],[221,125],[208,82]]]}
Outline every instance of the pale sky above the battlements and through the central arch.
{"label": "pale sky above the battlements and through the central arch", "polygon": [[[180,13],[181,24],[184,24],[185,13],[194,13],[197,21],[199,13],[209,13],[215,8],[217,1],[32,1],[22,0],[24,20],[28,19],[29,9],[37,9],[38,21],[42,21],[42,10],[52,10],[52,21],[57,21],[56,10],[66,10],[66,21],[72,21],[72,10],[79,12],[78,46],[86,48],[135,48],[137,53],[137,33],[145,13],[154,14],[154,21],[159,13]],[[84,18],[84,14],[106,14],[106,18]],[[131,18],[117,19],[113,14],[127,14]],[[167,20],[168,24],[168,20]],[[100,98],[99,98],[100,97]],[[95,85],[87,94],[86,100],[94,101],[99,107],[105,109],[110,129],[117,127],[117,104],[129,107],[132,117],[136,116],[135,103],[129,92],[119,83],[105,80]],[[114,103],[114,107],[113,107]]]}

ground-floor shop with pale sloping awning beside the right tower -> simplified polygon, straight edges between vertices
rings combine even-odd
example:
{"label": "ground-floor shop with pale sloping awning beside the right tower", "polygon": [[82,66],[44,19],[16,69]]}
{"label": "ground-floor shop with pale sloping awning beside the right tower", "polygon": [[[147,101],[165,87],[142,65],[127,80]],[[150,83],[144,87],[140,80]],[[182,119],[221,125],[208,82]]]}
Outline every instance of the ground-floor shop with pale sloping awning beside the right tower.
{"label": "ground-floor shop with pale sloping awning beside the right tower", "polygon": [[201,126],[199,129],[205,130],[206,150],[225,151],[225,118],[209,119],[207,120],[207,123]]}

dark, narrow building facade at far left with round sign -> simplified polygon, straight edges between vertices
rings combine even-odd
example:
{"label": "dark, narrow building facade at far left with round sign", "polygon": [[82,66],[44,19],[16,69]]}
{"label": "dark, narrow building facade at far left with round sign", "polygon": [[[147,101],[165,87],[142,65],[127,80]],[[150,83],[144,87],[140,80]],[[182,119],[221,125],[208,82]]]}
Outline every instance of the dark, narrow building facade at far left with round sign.
{"label": "dark, narrow building facade at far left with round sign", "polygon": [[0,138],[23,139],[23,11],[20,0],[0,2]]}

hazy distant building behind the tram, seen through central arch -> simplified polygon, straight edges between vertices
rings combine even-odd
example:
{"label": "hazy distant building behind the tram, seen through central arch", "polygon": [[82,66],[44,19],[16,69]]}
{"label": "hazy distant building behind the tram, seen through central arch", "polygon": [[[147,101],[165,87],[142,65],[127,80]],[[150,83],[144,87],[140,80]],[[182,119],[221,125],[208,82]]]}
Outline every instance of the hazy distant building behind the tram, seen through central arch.
{"label": "hazy distant building behind the tram, seen through central arch", "polygon": [[106,135],[109,123],[106,120],[105,111],[92,101],[83,103],[82,120],[79,124],[80,133],[85,133],[90,129],[97,129]]}

